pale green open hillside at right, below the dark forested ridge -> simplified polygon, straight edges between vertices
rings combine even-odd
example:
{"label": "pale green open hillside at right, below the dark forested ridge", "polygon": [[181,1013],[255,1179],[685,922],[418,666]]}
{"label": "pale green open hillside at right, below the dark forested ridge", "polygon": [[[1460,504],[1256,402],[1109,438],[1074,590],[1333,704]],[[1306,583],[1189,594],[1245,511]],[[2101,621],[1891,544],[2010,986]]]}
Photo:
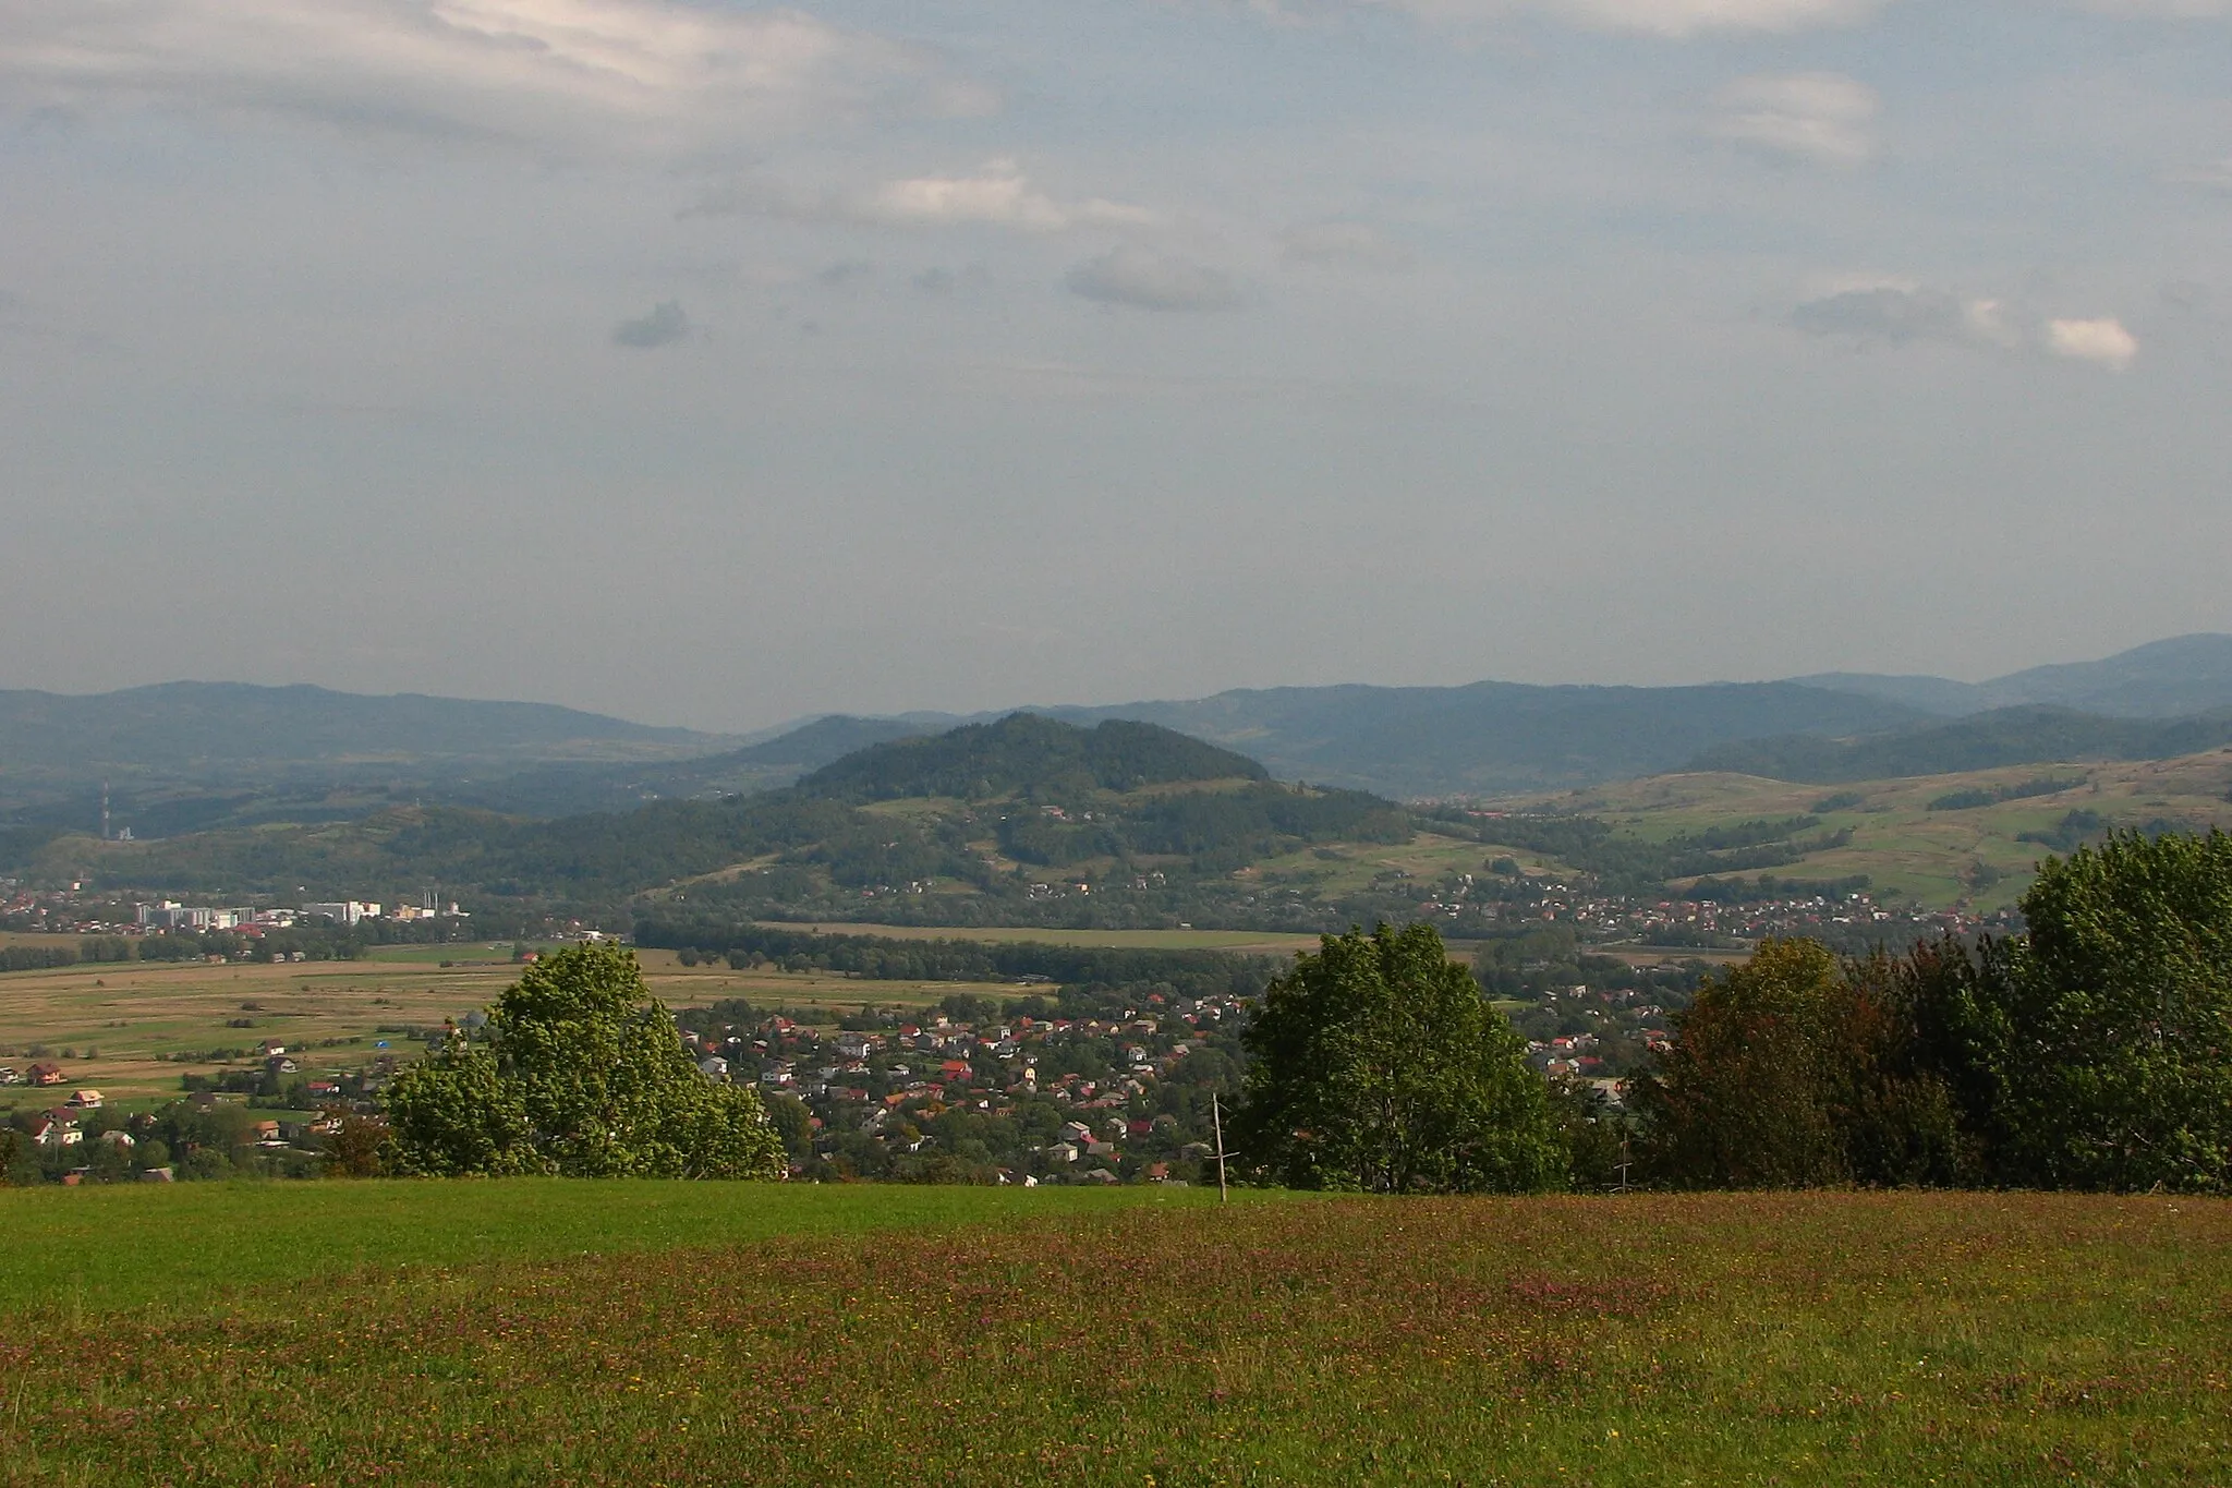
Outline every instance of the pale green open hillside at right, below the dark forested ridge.
{"label": "pale green open hillside at right, below the dark forested ridge", "polygon": [[[1933,801],[1960,792],[1995,794],[2040,781],[2067,781],[2067,788],[1993,805],[1931,810]],[[2049,834],[2069,812],[2094,812],[2114,828],[2232,828],[2228,796],[2232,750],[2165,761],[2009,765],[1850,785],[1801,785],[1748,774],[1661,774],[1491,805],[1603,817],[1654,841],[1750,819],[1815,814],[1821,819],[1817,832],[1850,828],[1853,841],[1774,868],[1777,877],[1841,879],[1864,872],[1877,892],[1897,890],[1928,908],[1966,901],[1978,910],[1998,910],[2029,888],[2038,859],[2060,852],[2049,843],[2020,841],[2024,832]]]}

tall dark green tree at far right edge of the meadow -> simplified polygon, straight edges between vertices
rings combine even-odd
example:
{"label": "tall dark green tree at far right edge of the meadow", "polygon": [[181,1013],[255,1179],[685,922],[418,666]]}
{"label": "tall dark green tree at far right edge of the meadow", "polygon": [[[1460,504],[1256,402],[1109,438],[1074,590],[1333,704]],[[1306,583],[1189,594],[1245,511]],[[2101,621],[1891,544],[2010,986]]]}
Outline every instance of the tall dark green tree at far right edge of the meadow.
{"label": "tall dark green tree at far right edge of the meadow", "polygon": [[1993,997],[2004,1176],[2232,1187],[2232,837],[2047,859]]}

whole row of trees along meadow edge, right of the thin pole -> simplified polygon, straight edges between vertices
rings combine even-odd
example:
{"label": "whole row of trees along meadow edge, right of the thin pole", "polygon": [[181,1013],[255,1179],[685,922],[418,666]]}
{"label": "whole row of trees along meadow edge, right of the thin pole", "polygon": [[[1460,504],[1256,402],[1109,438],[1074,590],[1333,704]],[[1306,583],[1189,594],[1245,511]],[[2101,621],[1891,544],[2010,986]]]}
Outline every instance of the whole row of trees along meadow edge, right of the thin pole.
{"label": "whole row of trees along meadow edge, right of the thin pole", "polygon": [[1239,1142],[1384,1191],[1558,1187],[1614,1136],[1670,1187],[2232,1189],[2232,837],[2082,848],[2022,912],[1904,955],[1768,941],[1580,1122],[1431,928],[1328,937],[1248,1031]]}

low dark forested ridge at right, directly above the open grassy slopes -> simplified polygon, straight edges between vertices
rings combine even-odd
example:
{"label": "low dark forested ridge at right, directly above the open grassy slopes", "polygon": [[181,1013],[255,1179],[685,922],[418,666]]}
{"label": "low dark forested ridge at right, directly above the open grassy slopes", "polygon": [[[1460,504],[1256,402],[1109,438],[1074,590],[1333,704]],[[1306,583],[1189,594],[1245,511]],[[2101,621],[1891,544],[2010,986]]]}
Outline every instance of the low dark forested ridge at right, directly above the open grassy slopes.
{"label": "low dark forested ridge at right, directly above the open grassy slopes", "polygon": [[1866,738],[1754,738],[1707,750],[1690,770],[1770,781],[1884,781],[2000,765],[2174,759],[2232,743],[2232,709],[2194,718],[2103,718],[2067,707],[2000,707]]}

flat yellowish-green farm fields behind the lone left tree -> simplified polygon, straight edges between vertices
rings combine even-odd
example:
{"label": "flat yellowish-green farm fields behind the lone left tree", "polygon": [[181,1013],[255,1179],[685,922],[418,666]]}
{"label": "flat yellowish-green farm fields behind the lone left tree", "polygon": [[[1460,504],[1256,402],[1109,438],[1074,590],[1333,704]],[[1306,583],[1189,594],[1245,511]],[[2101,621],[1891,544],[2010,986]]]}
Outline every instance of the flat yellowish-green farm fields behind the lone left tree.
{"label": "flat yellowish-green farm fields behind the lone left tree", "polygon": [[[652,993],[676,1008],[743,997],[835,1022],[839,1008],[866,1002],[926,1006],[953,991],[984,991],[975,982],[681,966],[667,950],[643,950],[638,959]],[[71,1086],[96,1086],[123,1104],[170,1100],[187,1073],[261,1064],[263,1040],[283,1042],[308,1075],[348,1071],[379,1053],[411,1053],[408,1031],[440,1028],[444,1017],[487,1006],[518,973],[509,944],[484,941],[388,946],[364,962],[109,962],[0,973],[0,1062],[20,1069],[49,1060]],[[379,1049],[382,1040],[391,1049]],[[0,1086],[0,1113],[54,1100],[51,1089]]]}

